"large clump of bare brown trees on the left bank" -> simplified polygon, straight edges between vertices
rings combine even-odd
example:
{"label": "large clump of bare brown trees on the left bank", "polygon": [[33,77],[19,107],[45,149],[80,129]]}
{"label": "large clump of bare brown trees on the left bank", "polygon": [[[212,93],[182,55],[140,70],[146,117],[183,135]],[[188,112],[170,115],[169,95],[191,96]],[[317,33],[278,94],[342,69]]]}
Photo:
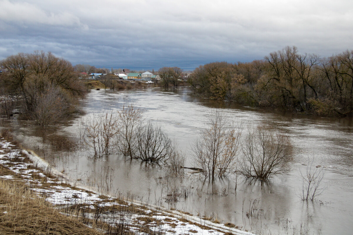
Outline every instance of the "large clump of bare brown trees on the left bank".
{"label": "large clump of bare brown trees on the left bank", "polygon": [[0,65],[6,69],[0,75],[0,111],[8,118],[17,109],[20,118],[44,128],[76,111],[75,100],[86,92],[72,64],[51,52],[19,53]]}

